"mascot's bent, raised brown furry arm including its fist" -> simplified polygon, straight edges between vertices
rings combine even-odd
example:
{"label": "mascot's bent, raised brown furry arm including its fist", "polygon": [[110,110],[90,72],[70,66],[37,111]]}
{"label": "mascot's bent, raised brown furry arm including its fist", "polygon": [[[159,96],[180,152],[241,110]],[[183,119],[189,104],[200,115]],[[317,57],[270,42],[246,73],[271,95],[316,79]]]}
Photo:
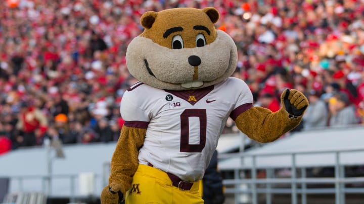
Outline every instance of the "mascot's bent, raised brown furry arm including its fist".
{"label": "mascot's bent, raised brown furry arm including its fist", "polygon": [[281,95],[282,108],[273,113],[262,107],[252,107],[236,119],[237,127],[249,138],[268,143],[296,127],[308,106],[307,98],[297,90],[285,90]]}

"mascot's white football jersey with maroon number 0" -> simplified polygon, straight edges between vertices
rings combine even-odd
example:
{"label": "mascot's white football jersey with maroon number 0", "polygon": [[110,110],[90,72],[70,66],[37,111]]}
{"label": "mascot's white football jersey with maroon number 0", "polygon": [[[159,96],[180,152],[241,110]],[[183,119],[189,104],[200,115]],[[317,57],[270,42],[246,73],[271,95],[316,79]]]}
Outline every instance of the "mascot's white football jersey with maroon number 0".
{"label": "mascot's white football jersey with maroon number 0", "polygon": [[185,181],[202,179],[229,116],[252,107],[246,83],[228,78],[194,91],[168,91],[141,82],[123,95],[120,112],[129,127],[147,128],[139,163]]}

